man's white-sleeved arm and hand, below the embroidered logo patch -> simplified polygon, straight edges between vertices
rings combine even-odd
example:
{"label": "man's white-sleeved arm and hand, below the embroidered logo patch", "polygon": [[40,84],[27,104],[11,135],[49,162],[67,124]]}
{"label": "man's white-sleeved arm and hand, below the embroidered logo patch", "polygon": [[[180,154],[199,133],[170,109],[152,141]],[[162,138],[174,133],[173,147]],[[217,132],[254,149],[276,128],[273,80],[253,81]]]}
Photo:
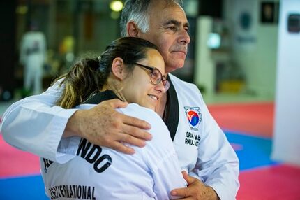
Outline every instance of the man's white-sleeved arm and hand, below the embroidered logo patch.
{"label": "man's white-sleeved arm and hand, below the embroidered logo patch", "polygon": [[194,169],[188,172],[188,177],[197,179],[193,179],[188,188],[179,188],[173,192],[182,194],[183,199],[216,199],[216,196],[221,200],[235,199],[239,189],[239,159],[209,113],[200,91],[195,85],[190,85],[188,89],[193,98],[197,99],[202,112],[203,129],[197,145],[197,162]]}

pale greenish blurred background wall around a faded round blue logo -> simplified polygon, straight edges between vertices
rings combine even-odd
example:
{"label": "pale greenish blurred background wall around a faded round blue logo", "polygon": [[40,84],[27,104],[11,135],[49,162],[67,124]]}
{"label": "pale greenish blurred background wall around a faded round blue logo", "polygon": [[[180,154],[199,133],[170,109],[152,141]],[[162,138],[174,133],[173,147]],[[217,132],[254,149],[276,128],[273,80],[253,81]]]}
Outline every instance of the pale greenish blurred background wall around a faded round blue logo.
{"label": "pale greenish blurred background wall around a faded round blue logo", "polygon": [[[273,99],[278,24],[260,22],[260,3],[263,1],[224,0],[224,11],[225,20],[232,30],[234,62],[241,66],[246,74],[246,90]],[[248,30],[241,29],[239,25],[239,16],[245,11],[250,13],[252,19]],[[245,41],[239,41],[238,38],[243,38]]]}

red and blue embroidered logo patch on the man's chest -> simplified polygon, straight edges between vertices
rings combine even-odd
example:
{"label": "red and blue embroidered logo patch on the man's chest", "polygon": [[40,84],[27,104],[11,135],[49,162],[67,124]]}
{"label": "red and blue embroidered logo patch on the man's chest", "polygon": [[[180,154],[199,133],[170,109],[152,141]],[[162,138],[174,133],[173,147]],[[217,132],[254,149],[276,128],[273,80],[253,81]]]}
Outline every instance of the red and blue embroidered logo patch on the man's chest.
{"label": "red and blue embroidered logo patch on the man's chest", "polygon": [[202,121],[202,114],[200,113],[200,108],[185,106],[184,109],[186,110],[186,118],[188,119],[190,129],[197,131],[198,126]]}

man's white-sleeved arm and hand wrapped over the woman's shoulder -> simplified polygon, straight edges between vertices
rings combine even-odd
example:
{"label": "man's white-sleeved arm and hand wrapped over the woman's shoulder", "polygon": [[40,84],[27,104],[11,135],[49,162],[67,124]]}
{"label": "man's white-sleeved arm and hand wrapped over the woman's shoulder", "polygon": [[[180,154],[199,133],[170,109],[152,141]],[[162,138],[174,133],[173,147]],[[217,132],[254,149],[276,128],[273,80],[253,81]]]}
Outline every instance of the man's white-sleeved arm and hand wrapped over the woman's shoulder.
{"label": "man's white-sleeved arm and hand wrapped over the woman's shoulder", "polygon": [[13,103],[1,119],[4,140],[21,150],[63,163],[75,156],[72,136],[126,153],[133,150],[121,142],[143,146],[144,140],[151,138],[142,130],[149,129],[147,122],[114,110],[126,103],[113,100],[91,110],[63,109],[54,106],[60,94],[61,88],[56,83],[43,94]]}

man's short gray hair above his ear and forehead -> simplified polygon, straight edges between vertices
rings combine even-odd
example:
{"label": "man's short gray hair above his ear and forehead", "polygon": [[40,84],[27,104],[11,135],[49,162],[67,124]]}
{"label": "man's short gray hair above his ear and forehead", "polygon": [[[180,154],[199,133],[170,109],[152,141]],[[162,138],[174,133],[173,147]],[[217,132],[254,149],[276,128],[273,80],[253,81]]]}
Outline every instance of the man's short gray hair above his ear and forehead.
{"label": "man's short gray hair above his ear and forehead", "polygon": [[[152,0],[153,1],[153,0]],[[162,0],[158,0],[162,1]],[[177,3],[182,5],[182,0],[164,0],[165,3]],[[121,13],[120,20],[120,31],[121,36],[127,36],[127,23],[130,21],[135,22],[137,27],[142,31],[142,33],[146,33],[149,31],[149,8],[150,8],[151,0],[126,0],[124,8]]]}

